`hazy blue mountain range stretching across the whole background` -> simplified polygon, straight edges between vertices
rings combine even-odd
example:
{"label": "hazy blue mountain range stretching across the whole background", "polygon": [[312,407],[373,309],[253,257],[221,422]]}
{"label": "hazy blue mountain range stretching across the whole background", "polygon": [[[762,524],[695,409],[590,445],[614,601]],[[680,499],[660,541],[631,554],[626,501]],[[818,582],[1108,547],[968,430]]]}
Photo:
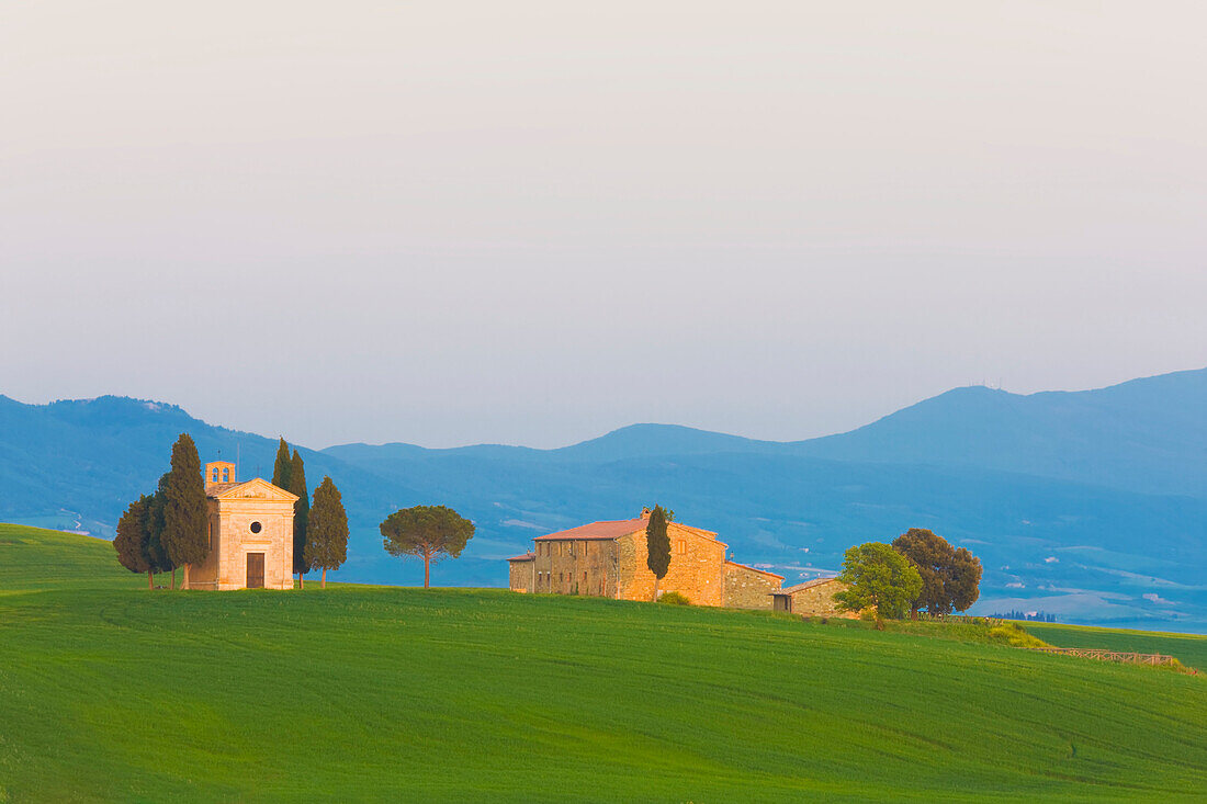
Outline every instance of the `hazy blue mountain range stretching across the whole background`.
{"label": "hazy blue mountain range stretching across the whole background", "polygon": [[[337,578],[415,583],[384,553],[391,511],[447,503],[478,532],[439,583],[502,585],[532,536],[663,502],[716,530],[739,560],[798,581],[838,570],[852,543],[932,528],[985,563],[981,611],[1207,630],[1207,369],[1074,394],[956,389],[859,430],[765,442],[634,425],[560,449],[345,444],[303,449],[352,525]],[[215,427],[175,406],[0,397],[0,519],[112,534],[154,487],[171,442],[270,474],[275,438]]]}

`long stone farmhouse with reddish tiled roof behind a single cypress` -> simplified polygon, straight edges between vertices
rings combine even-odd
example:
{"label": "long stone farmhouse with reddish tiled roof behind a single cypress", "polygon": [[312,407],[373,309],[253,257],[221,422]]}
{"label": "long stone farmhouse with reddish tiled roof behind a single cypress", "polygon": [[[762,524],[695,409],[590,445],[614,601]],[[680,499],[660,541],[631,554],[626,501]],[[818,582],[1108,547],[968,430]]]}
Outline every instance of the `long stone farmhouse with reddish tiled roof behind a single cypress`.
{"label": "long stone farmhouse with reddish tiled roof behind a single cypress", "polygon": [[[654,573],[646,565],[649,511],[636,519],[593,522],[533,541],[533,549],[508,559],[511,589],[579,594],[616,600],[652,600]],[[700,606],[770,608],[783,576],[725,559],[717,534],[672,522],[666,528],[671,565],[659,593],[677,592]]]}

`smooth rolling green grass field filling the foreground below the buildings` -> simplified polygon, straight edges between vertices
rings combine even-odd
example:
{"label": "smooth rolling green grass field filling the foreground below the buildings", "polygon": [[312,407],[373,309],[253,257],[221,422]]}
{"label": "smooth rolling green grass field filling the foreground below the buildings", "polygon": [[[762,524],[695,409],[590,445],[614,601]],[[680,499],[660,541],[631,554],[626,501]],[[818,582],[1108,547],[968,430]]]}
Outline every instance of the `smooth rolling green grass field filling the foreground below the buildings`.
{"label": "smooth rolling green grass field filling the foreground below the buildings", "polygon": [[107,542],[0,525],[0,802],[1205,791],[1203,676],[500,590],[150,592]]}

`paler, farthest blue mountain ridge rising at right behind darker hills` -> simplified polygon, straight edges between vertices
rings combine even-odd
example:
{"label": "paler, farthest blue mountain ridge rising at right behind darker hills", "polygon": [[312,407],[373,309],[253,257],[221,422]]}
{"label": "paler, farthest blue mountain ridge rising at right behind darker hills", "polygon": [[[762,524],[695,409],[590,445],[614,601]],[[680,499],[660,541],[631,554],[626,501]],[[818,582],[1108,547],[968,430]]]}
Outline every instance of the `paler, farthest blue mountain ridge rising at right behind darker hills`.
{"label": "paler, farthest blue mountain ridge rising at right behind darker hills", "polygon": [[1207,497],[1207,368],[1094,391],[960,388],[798,454],[978,466]]}

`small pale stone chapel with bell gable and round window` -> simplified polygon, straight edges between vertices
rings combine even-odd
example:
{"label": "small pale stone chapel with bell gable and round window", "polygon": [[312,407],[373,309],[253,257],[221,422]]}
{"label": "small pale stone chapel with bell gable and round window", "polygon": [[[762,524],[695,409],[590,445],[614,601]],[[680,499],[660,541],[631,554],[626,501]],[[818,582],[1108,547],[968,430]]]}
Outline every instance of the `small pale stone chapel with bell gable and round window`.
{"label": "small pale stone chapel with bell gable and round window", "polygon": [[234,464],[205,465],[210,554],[189,569],[189,589],[292,589],[293,503],[268,480],[239,483]]}

